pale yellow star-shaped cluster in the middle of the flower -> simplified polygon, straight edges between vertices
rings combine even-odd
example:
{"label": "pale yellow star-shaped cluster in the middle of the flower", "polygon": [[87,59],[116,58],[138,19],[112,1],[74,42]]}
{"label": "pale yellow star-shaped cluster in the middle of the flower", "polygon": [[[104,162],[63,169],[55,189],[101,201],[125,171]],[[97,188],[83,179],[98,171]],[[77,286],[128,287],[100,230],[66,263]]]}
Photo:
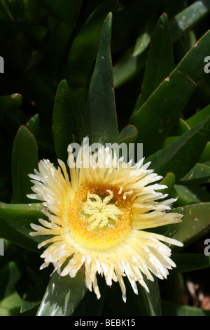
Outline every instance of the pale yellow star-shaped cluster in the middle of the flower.
{"label": "pale yellow star-shaped cluster in the middle of the flower", "polygon": [[122,211],[118,206],[114,204],[109,204],[113,199],[113,192],[111,190],[106,190],[109,192],[109,196],[102,199],[98,194],[87,194],[87,201],[83,205],[83,211],[87,215],[88,222],[90,226],[88,230],[94,230],[95,228],[105,227],[109,224],[111,218],[113,221],[118,220],[118,216],[122,214]]}

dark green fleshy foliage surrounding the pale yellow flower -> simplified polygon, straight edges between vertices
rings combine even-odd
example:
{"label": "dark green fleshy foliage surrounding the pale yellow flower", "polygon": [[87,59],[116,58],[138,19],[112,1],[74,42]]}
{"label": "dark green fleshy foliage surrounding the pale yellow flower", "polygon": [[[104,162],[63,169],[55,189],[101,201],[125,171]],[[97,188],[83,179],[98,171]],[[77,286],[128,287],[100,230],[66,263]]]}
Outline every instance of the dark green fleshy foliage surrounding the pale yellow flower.
{"label": "dark green fleshy foliage surrounding the pale yellow flower", "polygon": [[[175,2],[0,0],[0,315],[209,315],[181,297],[186,278],[210,271],[210,1]],[[97,301],[83,272],[38,270],[42,238],[29,235],[45,216],[27,197],[28,174],[42,158],[66,162],[69,143],[85,136],[143,143],[183,214],[157,228],[185,244],[172,254],[173,278],[146,280],[150,293],[138,286],[139,296],[128,284],[126,304],[116,284],[99,279]]]}

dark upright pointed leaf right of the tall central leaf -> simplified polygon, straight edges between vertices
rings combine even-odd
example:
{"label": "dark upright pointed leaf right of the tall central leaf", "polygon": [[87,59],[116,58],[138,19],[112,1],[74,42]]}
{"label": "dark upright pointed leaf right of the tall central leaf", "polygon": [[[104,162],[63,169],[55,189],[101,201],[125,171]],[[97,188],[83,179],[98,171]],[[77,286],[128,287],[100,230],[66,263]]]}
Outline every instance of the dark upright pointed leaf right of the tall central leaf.
{"label": "dark upright pointed leaf right of the tall central leaf", "polygon": [[149,98],[160,83],[169,76],[174,69],[174,54],[172,38],[169,32],[167,14],[160,16],[153,33],[151,48],[146,62],[144,80],[141,85],[141,95],[137,100],[136,109]]}

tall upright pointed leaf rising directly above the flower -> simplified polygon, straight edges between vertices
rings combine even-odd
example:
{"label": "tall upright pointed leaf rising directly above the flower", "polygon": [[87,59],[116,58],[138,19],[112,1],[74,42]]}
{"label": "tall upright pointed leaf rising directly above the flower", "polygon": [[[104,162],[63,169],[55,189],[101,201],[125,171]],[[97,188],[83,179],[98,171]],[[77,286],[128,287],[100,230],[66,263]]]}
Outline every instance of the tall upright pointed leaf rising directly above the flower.
{"label": "tall upright pointed leaf rising directly above the flower", "polygon": [[111,25],[112,14],[109,13],[102,26],[85,112],[84,136],[89,136],[90,144],[119,142],[110,51]]}

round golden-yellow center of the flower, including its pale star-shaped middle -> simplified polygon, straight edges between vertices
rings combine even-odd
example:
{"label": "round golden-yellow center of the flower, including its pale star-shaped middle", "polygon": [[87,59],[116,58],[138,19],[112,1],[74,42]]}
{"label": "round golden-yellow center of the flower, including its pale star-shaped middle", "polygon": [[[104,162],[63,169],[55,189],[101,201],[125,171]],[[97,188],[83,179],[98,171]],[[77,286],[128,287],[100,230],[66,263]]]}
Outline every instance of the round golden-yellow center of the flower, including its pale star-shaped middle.
{"label": "round golden-yellow center of the flower, including its pale star-shaped middle", "polygon": [[113,187],[87,187],[69,201],[71,236],[89,249],[104,250],[123,241],[132,228],[130,203]]}

